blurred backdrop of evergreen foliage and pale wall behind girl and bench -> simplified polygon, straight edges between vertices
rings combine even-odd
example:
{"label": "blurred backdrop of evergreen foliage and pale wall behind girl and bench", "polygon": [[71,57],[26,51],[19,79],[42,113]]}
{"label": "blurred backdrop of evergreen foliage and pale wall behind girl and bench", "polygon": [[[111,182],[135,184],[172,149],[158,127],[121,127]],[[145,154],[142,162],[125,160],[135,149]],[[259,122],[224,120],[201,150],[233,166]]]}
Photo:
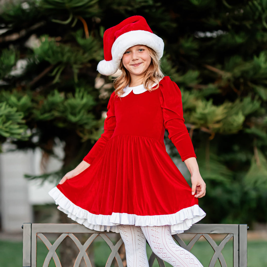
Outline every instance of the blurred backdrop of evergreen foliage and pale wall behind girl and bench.
{"label": "blurred backdrop of evergreen foliage and pale wall behind girl and bench", "polygon": [[[201,223],[248,224],[248,266],[267,266],[265,0],[0,1],[0,248],[20,248],[24,222],[73,222],[48,191],[104,131],[103,33],[132,15],[164,40],[163,72],[182,92],[207,185]],[[167,131],[164,142],[190,184]]]}

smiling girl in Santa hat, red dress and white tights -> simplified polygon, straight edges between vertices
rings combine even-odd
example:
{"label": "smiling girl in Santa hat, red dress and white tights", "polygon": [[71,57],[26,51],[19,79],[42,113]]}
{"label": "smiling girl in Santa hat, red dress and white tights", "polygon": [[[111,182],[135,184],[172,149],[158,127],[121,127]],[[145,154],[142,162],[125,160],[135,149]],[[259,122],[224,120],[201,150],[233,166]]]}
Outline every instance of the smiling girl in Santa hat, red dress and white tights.
{"label": "smiling girl in Santa hat, red dress and white tights", "polygon": [[[49,194],[68,217],[97,231],[120,233],[128,267],[148,267],[146,240],[172,266],[202,266],[174,242],[206,214],[206,184],[184,124],[178,86],[162,74],[163,40],[141,16],[104,33],[97,69],[112,75],[104,133]],[[192,189],[166,152],[165,129],[191,173]]]}

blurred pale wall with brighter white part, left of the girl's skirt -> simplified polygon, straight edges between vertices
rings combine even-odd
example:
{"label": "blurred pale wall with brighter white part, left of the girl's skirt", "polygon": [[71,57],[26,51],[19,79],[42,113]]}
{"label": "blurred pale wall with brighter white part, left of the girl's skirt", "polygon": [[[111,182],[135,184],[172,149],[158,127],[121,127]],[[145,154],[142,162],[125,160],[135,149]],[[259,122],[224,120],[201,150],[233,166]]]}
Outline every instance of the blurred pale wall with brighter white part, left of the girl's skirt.
{"label": "blurred pale wall with brighter white part, left of the girl's skirt", "polygon": [[[42,152],[34,151],[10,151],[9,144],[3,145],[3,153],[0,154],[0,214],[2,231],[21,231],[25,222],[33,222],[32,205],[55,203],[48,195],[48,191],[56,184],[41,180],[28,180],[24,174],[39,175],[44,172],[52,172],[61,168],[63,147],[57,146],[57,154],[60,159],[50,157],[45,166],[41,167]],[[6,152],[5,152],[6,151]]]}

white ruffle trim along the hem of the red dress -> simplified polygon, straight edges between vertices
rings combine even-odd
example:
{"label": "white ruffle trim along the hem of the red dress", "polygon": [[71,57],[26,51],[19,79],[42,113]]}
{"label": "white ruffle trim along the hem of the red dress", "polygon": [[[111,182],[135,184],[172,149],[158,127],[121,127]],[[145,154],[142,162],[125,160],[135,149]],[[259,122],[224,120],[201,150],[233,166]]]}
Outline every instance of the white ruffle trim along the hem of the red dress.
{"label": "white ruffle trim along the hem of the red dress", "polygon": [[180,234],[206,215],[197,204],[166,215],[141,216],[114,212],[111,215],[93,214],[73,204],[57,187],[51,189],[48,194],[59,205],[57,208],[66,213],[69,218],[96,231],[119,233],[119,224],[136,226],[171,225],[171,234]]}

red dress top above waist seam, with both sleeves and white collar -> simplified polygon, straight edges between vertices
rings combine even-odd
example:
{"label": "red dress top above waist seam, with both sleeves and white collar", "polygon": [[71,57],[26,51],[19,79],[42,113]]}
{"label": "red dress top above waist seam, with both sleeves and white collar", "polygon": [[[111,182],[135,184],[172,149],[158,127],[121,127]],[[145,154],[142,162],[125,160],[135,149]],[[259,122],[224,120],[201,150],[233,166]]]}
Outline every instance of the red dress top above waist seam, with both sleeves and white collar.
{"label": "red dress top above waist seam, with both sleeves and white collar", "polygon": [[182,161],[196,158],[184,124],[181,91],[170,77],[165,76],[160,80],[159,87],[151,92],[140,85],[125,88],[124,92],[123,97],[112,92],[104,121],[104,133],[84,157],[85,161],[92,162],[101,148],[115,136],[140,136],[162,143],[165,129]]}

